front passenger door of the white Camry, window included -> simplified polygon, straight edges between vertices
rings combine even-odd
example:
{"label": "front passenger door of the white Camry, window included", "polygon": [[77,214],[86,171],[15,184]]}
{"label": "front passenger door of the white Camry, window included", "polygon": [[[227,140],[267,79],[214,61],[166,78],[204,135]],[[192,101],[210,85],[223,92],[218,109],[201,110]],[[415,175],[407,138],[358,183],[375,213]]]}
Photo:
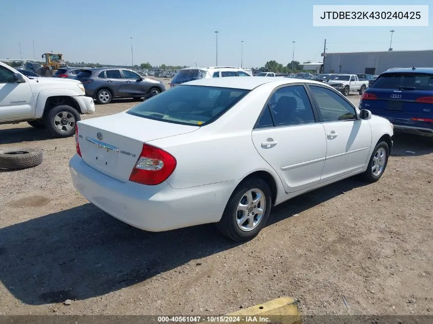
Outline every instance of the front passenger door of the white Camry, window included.
{"label": "front passenger door of the white Camry, window included", "polygon": [[336,91],[320,85],[308,88],[326,133],[326,160],[320,181],[362,169],[372,145],[370,123],[360,119],[355,107]]}

